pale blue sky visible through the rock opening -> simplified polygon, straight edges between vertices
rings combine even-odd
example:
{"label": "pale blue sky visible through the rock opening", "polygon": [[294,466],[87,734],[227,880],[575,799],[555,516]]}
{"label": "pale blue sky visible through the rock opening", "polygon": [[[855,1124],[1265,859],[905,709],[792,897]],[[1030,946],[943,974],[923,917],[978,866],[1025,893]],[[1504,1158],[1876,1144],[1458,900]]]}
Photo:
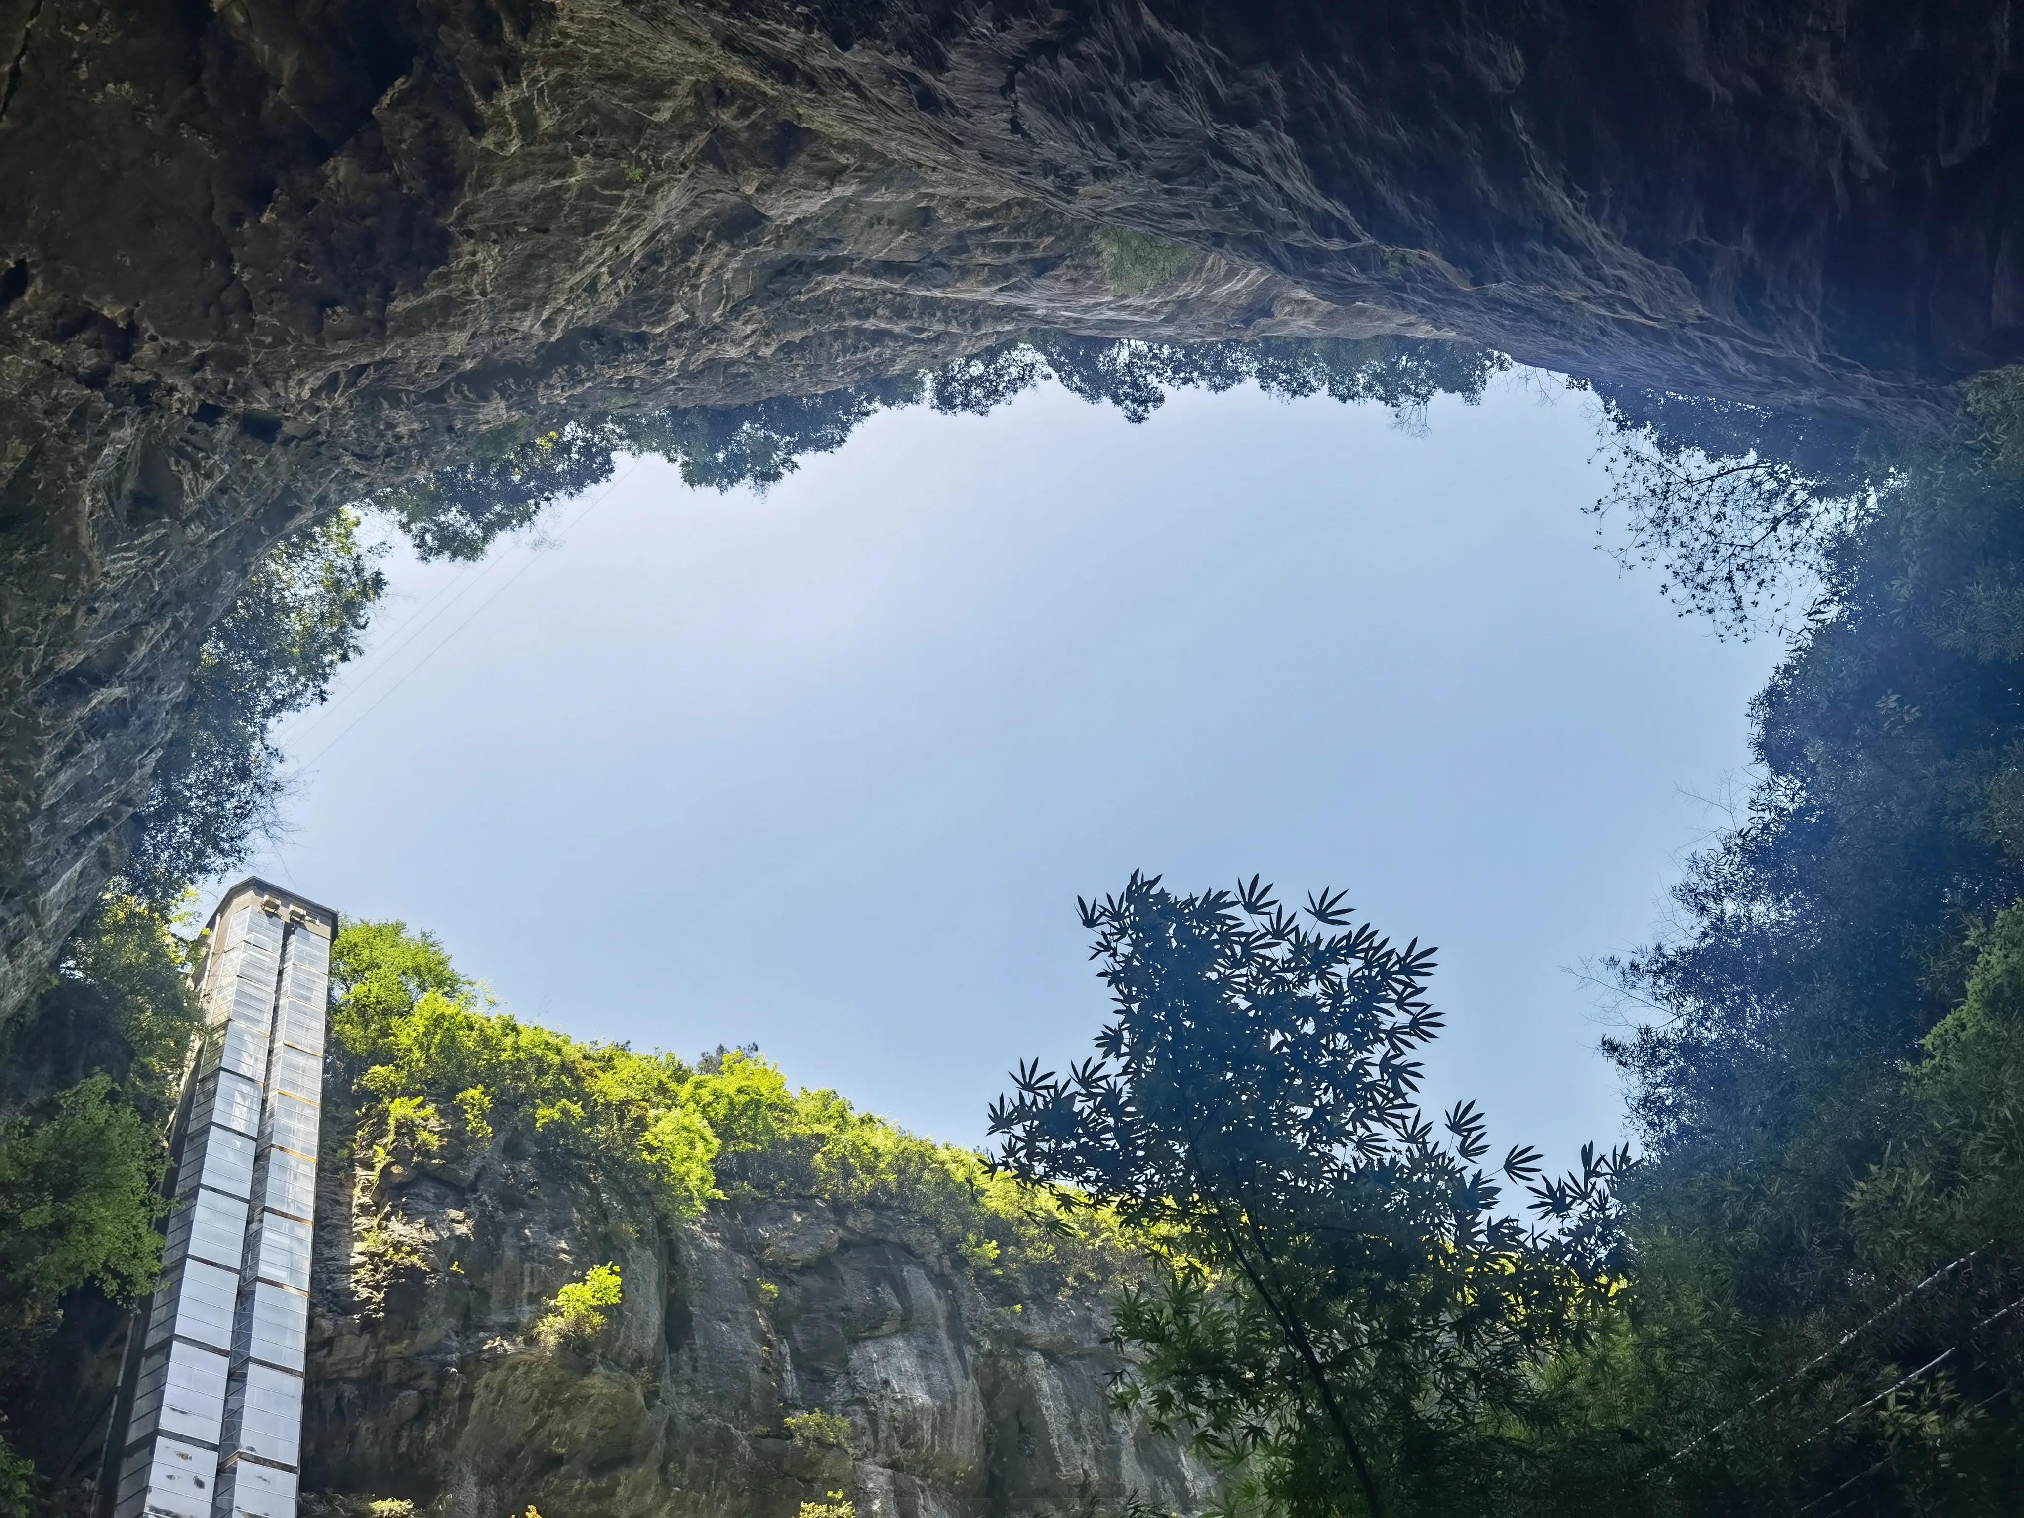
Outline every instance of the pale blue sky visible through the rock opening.
{"label": "pale blue sky visible through the rock opening", "polygon": [[767,496],[658,459],[476,571],[389,559],[255,868],[403,917],[522,1016],[982,1142],[1103,1014],[1075,897],[1336,884],[1441,945],[1429,1099],[1619,1131],[1571,967],[1646,939],[1771,642],[1595,551],[1579,395],[1376,407],[1046,387],[872,419]]}

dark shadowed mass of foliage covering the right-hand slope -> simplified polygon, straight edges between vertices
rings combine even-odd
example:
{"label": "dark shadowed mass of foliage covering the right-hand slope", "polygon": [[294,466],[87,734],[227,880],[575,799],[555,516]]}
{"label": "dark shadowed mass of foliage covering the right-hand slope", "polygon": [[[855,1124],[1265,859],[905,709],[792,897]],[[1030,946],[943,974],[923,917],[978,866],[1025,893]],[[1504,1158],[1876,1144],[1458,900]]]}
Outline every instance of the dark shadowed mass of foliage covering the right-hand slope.
{"label": "dark shadowed mass of foliage covering the right-hand slope", "polygon": [[1996,1514],[2024,1480],[2020,401],[1984,376],[1953,435],[1805,463],[1874,498],[1816,524],[1741,824],[1613,965],[1656,1014],[1607,1040],[1648,1144],[1629,1332],[1569,1376],[1536,1506]]}

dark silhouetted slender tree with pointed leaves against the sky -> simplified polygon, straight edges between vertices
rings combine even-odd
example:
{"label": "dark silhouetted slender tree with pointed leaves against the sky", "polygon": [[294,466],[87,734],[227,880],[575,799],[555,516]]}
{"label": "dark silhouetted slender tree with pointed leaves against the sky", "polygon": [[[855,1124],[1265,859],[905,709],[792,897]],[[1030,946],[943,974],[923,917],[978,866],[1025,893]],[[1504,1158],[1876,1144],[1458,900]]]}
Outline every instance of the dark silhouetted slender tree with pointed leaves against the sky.
{"label": "dark silhouetted slender tree with pointed leaves against the sky", "polygon": [[1542,1362],[1609,1310],[1627,1156],[1538,1182],[1510,1150],[1550,1220],[1520,1225],[1475,1105],[1437,1137],[1415,1101],[1433,951],[1350,927],[1340,895],[1305,917],[1255,876],[1083,905],[1115,1018],[1067,1077],[1020,1065],[1000,1164],[1166,1241],[1164,1285],[1117,1312],[1125,1405],[1295,1516],[1488,1510]]}

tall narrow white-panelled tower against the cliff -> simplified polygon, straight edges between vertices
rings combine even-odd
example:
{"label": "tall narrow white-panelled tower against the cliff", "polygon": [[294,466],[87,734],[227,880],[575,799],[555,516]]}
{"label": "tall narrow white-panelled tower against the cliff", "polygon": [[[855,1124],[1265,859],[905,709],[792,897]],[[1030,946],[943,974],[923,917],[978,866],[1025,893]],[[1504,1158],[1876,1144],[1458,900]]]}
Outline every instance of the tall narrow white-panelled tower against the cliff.
{"label": "tall narrow white-panelled tower against the cliff", "polygon": [[210,915],[162,1287],[115,1427],[113,1518],[293,1518],[328,907],[243,880]]}

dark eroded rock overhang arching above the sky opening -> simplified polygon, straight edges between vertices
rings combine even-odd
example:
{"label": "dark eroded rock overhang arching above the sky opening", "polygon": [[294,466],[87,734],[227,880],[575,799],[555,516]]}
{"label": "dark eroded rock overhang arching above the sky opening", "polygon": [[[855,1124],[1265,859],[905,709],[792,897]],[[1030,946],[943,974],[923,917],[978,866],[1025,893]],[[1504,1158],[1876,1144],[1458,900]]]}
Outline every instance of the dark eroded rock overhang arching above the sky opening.
{"label": "dark eroded rock overhang arching above the sky opening", "polygon": [[1905,419],[2024,348],[2004,0],[0,0],[0,1012],[249,561],[508,417],[1034,324]]}

